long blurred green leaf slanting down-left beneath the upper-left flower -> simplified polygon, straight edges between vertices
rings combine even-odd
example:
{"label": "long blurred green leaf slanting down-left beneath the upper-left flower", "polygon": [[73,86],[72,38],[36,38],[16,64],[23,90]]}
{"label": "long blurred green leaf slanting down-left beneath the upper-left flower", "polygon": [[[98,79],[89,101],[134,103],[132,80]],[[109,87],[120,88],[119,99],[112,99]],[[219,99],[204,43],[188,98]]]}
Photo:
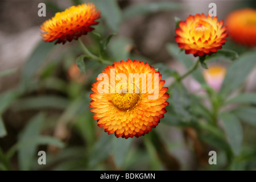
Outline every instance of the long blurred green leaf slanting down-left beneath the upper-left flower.
{"label": "long blurred green leaf slanting down-left beneath the upper-left flower", "polygon": [[54,43],[46,43],[41,41],[38,46],[33,51],[30,58],[27,60],[24,65],[21,79],[24,83],[28,84],[28,80],[35,76],[35,73],[40,68],[40,65],[46,60],[48,53],[55,46]]}

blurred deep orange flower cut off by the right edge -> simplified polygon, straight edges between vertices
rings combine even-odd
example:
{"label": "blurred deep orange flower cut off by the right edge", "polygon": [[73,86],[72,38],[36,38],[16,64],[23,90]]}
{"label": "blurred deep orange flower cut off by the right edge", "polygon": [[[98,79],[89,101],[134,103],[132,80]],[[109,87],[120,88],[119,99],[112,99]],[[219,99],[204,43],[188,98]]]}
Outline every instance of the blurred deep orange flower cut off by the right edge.
{"label": "blurred deep orange flower cut off by the right edge", "polygon": [[230,38],[238,44],[256,46],[256,10],[241,9],[233,11],[226,18]]}

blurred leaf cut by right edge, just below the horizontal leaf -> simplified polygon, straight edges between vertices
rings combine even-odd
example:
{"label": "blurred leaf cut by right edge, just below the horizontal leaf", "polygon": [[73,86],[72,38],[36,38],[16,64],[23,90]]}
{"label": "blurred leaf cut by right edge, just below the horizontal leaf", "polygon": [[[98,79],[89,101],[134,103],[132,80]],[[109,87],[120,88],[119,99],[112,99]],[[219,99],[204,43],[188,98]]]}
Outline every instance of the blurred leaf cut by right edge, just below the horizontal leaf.
{"label": "blurred leaf cut by right edge, just below the horizontal leaf", "polygon": [[234,114],[236,114],[242,121],[256,126],[256,107],[242,106],[234,110]]}

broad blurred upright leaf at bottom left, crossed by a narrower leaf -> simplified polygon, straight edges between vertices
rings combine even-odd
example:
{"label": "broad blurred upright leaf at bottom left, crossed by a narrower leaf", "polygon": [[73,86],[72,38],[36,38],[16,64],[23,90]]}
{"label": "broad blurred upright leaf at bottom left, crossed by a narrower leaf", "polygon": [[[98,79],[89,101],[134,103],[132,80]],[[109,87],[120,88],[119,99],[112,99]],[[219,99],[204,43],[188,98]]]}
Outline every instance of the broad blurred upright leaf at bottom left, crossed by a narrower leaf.
{"label": "broad blurred upright leaf at bottom left, crossed by a narrower leaf", "polygon": [[[30,140],[31,138],[36,138],[40,133],[40,126],[42,125],[45,115],[39,113],[32,119],[30,119],[28,125],[20,135],[19,142]],[[18,152],[19,168],[20,170],[30,170],[32,161],[34,159],[36,152],[36,146],[31,144],[30,146],[20,148]]]}

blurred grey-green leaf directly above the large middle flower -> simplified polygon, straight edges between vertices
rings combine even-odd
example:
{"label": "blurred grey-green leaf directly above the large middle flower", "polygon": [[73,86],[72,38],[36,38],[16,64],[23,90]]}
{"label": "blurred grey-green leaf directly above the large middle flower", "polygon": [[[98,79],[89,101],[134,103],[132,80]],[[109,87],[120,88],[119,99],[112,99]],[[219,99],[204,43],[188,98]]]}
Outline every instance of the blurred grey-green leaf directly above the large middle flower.
{"label": "blurred grey-green leaf directly above the large middle flower", "polygon": [[126,38],[113,39],[109,43],[109,51],[115,61],[127,60],[130,50],[131,40]]}

